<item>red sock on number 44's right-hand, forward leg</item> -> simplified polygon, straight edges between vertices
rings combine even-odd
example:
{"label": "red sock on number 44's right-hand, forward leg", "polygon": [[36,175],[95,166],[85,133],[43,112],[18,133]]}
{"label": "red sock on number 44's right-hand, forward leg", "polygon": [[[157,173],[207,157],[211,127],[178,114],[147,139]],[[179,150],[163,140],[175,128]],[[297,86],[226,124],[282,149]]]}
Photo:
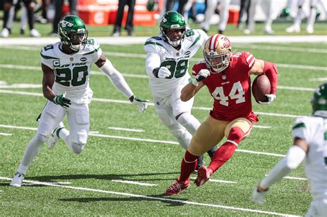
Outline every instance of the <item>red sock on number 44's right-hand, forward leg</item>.
{"label": "red sock on number 44's right-hand, forward leg", "polygon": [[217,149],[215,155],[208,166],[210,175],[212,175],[221,165],[226,163],[234,154],[237,145],[244,137],[244,132],[239,127],[232,127],[228,135],[227,141]]}

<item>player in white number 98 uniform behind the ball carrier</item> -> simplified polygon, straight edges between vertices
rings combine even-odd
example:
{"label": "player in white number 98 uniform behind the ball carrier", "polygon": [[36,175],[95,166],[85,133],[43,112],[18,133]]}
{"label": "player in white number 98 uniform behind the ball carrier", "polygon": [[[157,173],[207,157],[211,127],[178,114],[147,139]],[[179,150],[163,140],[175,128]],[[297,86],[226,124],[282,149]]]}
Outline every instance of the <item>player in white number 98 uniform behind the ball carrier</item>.
{"label": "player in white number 98 uniform behind the ball carrier", "polygon": [[[204,47],[208,35],[202,30],[188,29],[184,17],[176,11],[166,12],[160,21],[161,34],[146,40],[146,73],[150,76],[155,110],[164,125],[184,149],[200,123],[192,116],[194,98],[180,99],[181,89],[191,81],[190,59]],[[217,147],[208,151],[210,157]],[[198,158],[199,168],[203,156]]]}

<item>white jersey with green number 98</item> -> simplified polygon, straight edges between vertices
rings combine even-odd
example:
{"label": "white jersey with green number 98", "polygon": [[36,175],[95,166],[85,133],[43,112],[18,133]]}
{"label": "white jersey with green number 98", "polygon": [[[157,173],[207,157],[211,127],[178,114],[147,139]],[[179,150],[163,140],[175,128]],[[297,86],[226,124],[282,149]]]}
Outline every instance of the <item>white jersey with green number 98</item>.
{"label": "white jersey with green number 98", "polygon": [[166,66],[172,72],[166,79],[150,77],[149,86],[155,96],[169,96],[177,85],[186,85],[190,81],[188,73],[190,59],[200,47],[204,48],[206,39],[208,35],[202,30],[186,30],[179,50],[164,41],[162,34],[146,40],[143,49],[158,54],[161,60],[160,66]]}

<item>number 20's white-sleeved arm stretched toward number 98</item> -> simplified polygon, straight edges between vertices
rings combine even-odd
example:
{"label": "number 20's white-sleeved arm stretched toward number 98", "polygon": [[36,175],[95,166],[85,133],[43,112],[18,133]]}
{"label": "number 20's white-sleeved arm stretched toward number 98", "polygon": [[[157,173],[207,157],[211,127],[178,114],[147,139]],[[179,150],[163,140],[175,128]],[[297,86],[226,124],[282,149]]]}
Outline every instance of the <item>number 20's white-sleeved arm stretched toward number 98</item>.
{"label": "number 20's white-sleeved arm stretched toward number 98", "polygon": [[125,79],[118,70],[114,68],[112,63],[106,58],[106,56],[101,55],[99,60],[95,63],[99,69],[108,76],[111,83],[124,94],[131,103],[139,107],[139,112],[143,113],[148,107],[148,100],[141,99],[135,96],[130,90],[130,87],[126,83]]}

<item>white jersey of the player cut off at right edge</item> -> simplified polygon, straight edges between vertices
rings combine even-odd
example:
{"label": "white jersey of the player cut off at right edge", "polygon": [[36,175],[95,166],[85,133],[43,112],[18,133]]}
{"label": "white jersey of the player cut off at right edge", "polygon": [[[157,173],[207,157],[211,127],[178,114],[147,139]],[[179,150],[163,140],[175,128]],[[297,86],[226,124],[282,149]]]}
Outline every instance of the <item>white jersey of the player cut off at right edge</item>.
{"label": "white jersey of the player cut off at right edge", "polygon": [[312,186],[314,200],[327,199],[327,119],[302,116],[293,125],[293,138],[308,143],[303,165]]}

